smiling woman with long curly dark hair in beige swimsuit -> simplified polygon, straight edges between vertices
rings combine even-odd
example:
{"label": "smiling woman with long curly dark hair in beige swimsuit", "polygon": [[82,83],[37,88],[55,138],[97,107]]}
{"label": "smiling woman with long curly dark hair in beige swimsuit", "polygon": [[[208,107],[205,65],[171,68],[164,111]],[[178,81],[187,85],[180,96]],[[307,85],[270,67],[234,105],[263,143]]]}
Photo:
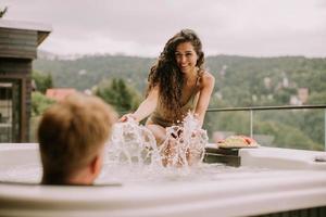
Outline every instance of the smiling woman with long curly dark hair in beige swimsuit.
{"label": "smiling woman with long curly dark hair in beige swimsuit", "polygon": [[137,122],[148,118],[146,126],[153,132],[158,145],[165,140],[165,128],[183,122],[192,111],[203,124],[214,88],[214,77],[203,69],[202,44],[193,30],[184,29],[165,44],[148,77],[147,98],[133,114],[124,115]]}

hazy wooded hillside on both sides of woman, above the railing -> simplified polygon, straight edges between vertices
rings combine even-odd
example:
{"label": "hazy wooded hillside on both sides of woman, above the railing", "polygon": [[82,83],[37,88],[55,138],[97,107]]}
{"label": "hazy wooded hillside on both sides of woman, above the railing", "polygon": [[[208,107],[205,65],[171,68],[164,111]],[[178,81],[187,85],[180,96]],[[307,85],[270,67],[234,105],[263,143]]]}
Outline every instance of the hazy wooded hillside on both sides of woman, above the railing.
{"label": "hazy wooded hillside on both sides of woman, above the railing", "polygon": [[[36,60],[34,69],[50,73],[55,87],[84,90],[106,78],[124,78],[143,92],[154,62],[123,55],[51,58]],[[206,58],[205,67],[216,78],[215,95],[231,106],[289,104],[299,88],[308,88],[310,103],[326,103],[326,59],[216,55]]]}

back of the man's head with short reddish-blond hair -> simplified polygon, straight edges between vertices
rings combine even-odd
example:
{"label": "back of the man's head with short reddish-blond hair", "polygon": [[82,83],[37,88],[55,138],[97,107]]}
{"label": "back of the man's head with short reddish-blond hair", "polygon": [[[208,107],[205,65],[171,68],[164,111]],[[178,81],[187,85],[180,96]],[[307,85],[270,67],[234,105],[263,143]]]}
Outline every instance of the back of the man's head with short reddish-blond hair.
{"label": "back of the man's head with short reddish-blond hair", "polygon": [[92,183],[115,119],[115,112],[102,100],[79,93],[48,108],[37,131],[42,183]]}

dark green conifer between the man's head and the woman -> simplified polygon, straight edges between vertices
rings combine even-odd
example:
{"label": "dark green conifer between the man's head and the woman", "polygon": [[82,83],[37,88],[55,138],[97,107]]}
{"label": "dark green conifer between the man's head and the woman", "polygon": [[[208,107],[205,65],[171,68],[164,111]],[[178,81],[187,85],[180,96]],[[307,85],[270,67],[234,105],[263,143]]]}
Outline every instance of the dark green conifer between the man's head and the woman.
{"label": "dark green conifer between the man's head and the woman", "polygon": [[140,104],[140,97],[137,90],[127,87],[122,78],[113,78],[112,80],[100,82],[95,93],[114,106],[121,114],[136,110]]}

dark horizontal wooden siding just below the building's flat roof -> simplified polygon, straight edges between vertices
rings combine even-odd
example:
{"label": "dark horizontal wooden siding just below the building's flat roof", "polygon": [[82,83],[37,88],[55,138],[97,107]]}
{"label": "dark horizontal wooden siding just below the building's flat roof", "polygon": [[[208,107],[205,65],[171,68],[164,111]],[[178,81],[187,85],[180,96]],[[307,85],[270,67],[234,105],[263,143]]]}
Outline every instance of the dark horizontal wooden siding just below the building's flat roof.
{"label": "dark horizontal wooden siding just below the building's flat roof", "polygon": [[36,59],[38,33],[0,28],[0,58]]}

